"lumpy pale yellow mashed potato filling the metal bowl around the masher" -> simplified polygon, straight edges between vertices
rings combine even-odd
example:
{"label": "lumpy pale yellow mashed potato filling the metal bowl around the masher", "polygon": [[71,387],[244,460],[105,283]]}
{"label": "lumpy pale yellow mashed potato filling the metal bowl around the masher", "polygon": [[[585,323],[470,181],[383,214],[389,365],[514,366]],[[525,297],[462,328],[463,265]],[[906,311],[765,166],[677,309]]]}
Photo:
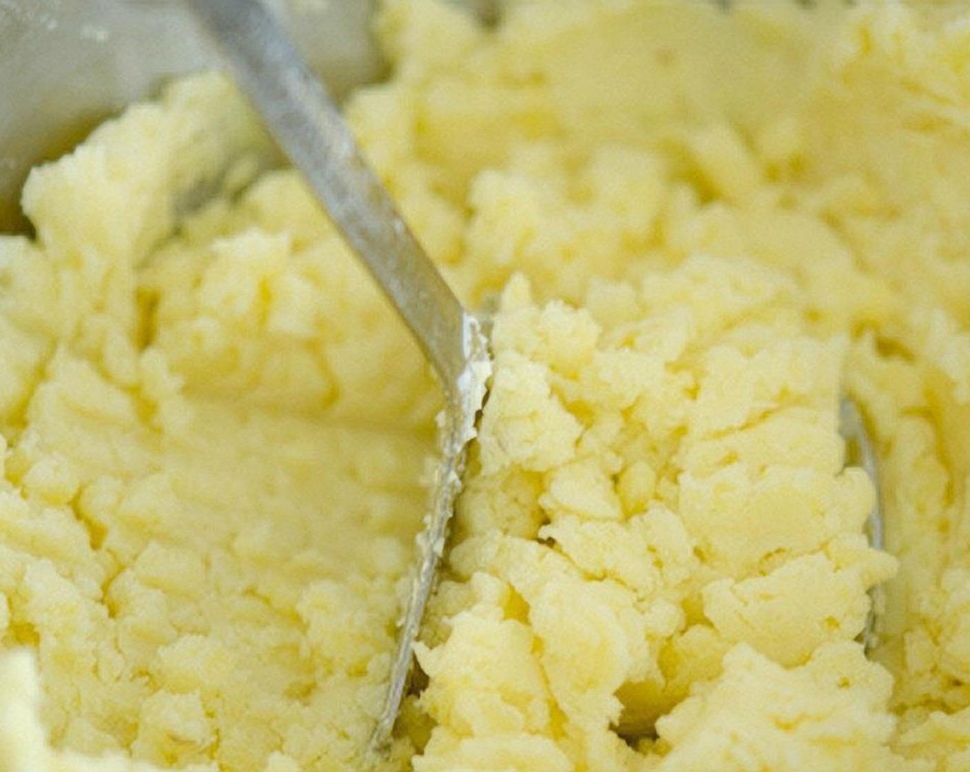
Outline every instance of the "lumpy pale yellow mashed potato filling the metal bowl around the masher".
{"label": "lumpy pale yellow mashed potato filling the metal bowl around the masher", "polygon": [[[381,766],[970,769],[964,14],[386,5],[348,114],[501,300]],[[257,126],[173,84],[0,240],[0,772],[367,763],[436,389]]]}

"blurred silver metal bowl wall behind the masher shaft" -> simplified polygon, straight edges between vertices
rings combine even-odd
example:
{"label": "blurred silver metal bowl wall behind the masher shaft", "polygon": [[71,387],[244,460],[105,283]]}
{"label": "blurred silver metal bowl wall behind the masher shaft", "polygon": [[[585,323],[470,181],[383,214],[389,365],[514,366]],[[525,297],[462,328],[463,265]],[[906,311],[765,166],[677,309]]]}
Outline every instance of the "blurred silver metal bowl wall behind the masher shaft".
{"label": "blurred silver metal bowl wall behind the masher shaft", "polygon": [[[379,79],[375,0],[275,0],[314,71],[338,97]],[[24,230],[28,170],[162,82],[217,62],[178,2],[0,0],[0,231]]]}

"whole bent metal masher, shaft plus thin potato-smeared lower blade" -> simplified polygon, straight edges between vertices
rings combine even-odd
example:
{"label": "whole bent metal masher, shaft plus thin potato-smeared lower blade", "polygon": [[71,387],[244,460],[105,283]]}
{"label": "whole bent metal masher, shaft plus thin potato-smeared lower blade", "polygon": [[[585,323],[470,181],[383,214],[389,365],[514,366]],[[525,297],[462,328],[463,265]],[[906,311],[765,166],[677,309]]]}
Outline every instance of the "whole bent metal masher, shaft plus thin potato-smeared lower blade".
{"label": "whole bent metal masher, shaft plus thin potato-smeared lower blade", "polygon": [[387,698],[373,734],[387,744],[411,649],[434,585],[447,523],[461,489],[465,448],[485,396],[488,348],[478,322],[411,234],[357,148],[323,85],[260,0],[194,0],[202,26],[262,115],[276,143],[303,173],[347,243],[370,269],[431,361],[445,392],[439,468],[419,539],[417,571],[399,634]]}

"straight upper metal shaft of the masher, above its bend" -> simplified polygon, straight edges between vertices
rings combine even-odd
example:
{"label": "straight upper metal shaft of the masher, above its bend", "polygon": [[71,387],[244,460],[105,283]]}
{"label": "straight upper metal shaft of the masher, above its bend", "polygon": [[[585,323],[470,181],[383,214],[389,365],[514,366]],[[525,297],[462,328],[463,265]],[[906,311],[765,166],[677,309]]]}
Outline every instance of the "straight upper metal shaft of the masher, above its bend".
{"label": "straight upper metal shaft of the masher, above its bend", "polygon": [[468,366],[462,304],[398,214],[323,84],[259,0],[190,0],[237,84],[394,304],[449,393]]}

